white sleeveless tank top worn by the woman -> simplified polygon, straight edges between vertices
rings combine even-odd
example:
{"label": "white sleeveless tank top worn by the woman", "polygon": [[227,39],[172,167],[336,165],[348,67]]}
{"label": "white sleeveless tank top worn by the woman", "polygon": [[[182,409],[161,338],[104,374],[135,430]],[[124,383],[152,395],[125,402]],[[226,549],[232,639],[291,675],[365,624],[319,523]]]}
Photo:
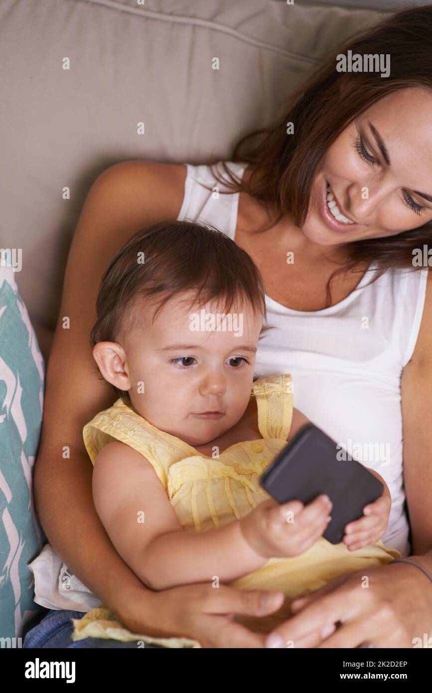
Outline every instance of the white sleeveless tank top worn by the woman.
{"label": "white sleeveless tank top worn by the woman", "polygon": [[[247,166],[226,164],[240,177]],[[239,193],[218,198],[199,184],[228,190],[210,168],[186,166],[178,219],[210,223],[234,239]],[[217,170],[226,177],[220,163]],[[358,459],[384,478],[392,508],[383,541],[407,556],[400,380],[420,328],[427,269],[388,270],[365,287],[375,272],[370,267],[348,297],[323,310],[291,310],[267,296],[267,324],[276,328],[258,342],[255,376],[290,373],[294,406],[341,446],[341,464]]]}

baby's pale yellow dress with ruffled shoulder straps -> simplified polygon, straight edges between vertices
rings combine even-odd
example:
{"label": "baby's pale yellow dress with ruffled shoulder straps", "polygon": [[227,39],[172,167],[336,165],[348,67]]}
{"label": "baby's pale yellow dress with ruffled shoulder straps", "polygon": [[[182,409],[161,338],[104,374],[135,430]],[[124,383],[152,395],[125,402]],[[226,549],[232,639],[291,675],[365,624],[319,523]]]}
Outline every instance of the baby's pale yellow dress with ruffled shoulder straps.
{"label": "baby's pale yellow dress with ruffled shoulder straps", "polygon": [[[251,396],[258,406],[262,439],[230,446],[219,457],[206,457],[179,438],[155,428],[134,412],[127,397],[84,426],[84,443],[95,462],[107,443],[120,440],[147,457],[168,493],[179,523],[187,532],[205,532],[248,514],[269,498],[261,488],[260,475],[287,444],[293,412],[291,376],[255,380]],[[385,565],[401,554],[382,541],[350,552],[344,543],[334,545],[321,538],[304,554],[272,558],[254,572],[230,584],[246,590],[282,590],[285,604],[267,617],[236,616],[255,631],[268,633],[289,617],[289,605],[300,593],[317,590],[337,575]],[[82,619],[73,619],[73,640],[115,638],[152,642],[165,647],[201,647],[189,638],[153,638],[130,633],[105,607],[93,608]]]}

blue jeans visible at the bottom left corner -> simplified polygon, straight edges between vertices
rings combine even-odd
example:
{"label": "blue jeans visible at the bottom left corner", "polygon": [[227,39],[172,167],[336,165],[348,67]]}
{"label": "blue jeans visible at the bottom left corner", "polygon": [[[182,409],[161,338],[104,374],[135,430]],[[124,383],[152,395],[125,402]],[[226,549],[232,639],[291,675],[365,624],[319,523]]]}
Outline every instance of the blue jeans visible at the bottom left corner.
{"label": "blue jeans visible at the bottom left corner", "polygon": [[[82,618],[83,615],[82,611],[56,611],[51,609],[37,626],[34,626],[26,633],[23,647],[73,647],[76,649],[128,647],[137,649],[136,642],[120,642],[120,640],[107,640],[105,638],[84,638],[84,640],[73,642],[71,639],[73,632],[71,619]],[[146,642],[145,648],[147,649],[147,647],[162,647],[162,649],[166,649],[162,645],[147,644]]]}

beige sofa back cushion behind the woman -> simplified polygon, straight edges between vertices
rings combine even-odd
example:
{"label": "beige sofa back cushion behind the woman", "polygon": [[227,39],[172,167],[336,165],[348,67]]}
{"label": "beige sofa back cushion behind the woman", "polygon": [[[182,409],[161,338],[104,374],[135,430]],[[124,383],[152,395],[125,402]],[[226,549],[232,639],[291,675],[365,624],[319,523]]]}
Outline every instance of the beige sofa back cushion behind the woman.
{"label": "beige sofa back cushion behind the woman", "polygon": [[22,249],[15,279],[30,318],[55,325],[73,231],[102,170],[229,159],[325,51],[378,19],[297,0],[1,0],[0,244]]}

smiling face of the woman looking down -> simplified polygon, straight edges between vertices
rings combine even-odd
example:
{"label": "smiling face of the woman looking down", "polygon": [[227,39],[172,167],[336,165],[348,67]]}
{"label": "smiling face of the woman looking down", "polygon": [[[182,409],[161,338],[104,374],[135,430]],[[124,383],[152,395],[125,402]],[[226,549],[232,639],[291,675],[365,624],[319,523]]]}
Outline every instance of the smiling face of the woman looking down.
{"label": "smiling face of the woman looking down", "polygon": [[[335,220],[327,184],[330,207],[354,224]],[[430,220],[432,91],[402,89],[372,105],[327,150],[302,231],[331,246],[394,236]]]}

